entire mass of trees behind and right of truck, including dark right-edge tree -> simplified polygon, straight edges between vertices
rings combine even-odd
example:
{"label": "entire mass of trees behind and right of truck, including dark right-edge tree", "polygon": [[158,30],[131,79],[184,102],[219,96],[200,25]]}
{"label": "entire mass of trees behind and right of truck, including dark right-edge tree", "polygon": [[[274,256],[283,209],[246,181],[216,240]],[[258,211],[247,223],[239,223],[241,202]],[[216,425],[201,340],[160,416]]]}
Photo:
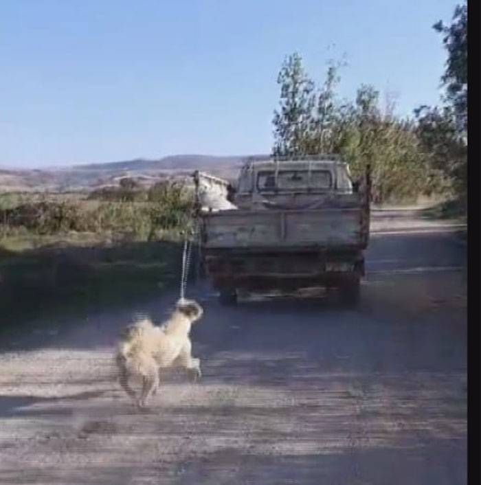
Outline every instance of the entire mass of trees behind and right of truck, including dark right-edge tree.
{"label": "entire mass of trees behind and right of truck, including dark right-edge tree", "polygon": [[467,5],[454,11],[451,25],[434,29],[444,35],[448,58],[441,81],[443,108],[420,106],[414,119],[381,112],[379,91],[361,84],[353,101],[337,98],[339,67],[328,66],[320,88],[292,54],[278,76],[280,109],[273,124],[275,155],[341,153],[359,175],[372,168],[373,199],[405,198],[446,192],[465,194],[467,181]]}

